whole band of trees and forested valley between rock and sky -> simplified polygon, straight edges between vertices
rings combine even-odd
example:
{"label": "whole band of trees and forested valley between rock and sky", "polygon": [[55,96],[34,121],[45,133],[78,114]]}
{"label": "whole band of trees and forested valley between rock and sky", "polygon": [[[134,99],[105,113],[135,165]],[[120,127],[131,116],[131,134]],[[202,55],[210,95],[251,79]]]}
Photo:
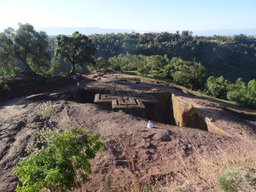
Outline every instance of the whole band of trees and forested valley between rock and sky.
{"label": "whole band of trees and forested valley between rock and sky", "polygon": [[[24,48],[17,51],[15,46],[21,44],[20,38],[28,39],[27,44],[36,39],[30,46],[36,51],[28,50],[26,44],[20,45]],[[8,46],[9,39],[16,43]],[[44,43],[43,47],[39,40]],[[0,76],[27,71],[29,66],[29,71],[44,73],[48,79],[52,73],[135,71],[142,76],[170,79],[190,90],[229,99],[244,107],[256,107],[256,38],[252,36],[204,37],[193,36],[191,31],[177,31],[87,37],[74,32],[70,37],[48,38],[45,32],[37,33],[29,24],[20,24],[16,32],[11,28],[2,32],[0,43]],[[9,51],[9,47],[15,48],[15,53]],[[15,61],[18,62],[14,64]]]}

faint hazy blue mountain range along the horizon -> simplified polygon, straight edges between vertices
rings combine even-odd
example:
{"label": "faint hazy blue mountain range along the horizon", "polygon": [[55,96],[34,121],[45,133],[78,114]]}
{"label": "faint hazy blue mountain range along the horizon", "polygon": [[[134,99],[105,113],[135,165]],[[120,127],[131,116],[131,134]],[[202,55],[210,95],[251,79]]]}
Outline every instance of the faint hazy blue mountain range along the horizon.
{"label": "faint hazy blue mountain range along the horizon", "polygon": [[[73,32],[80,32],[84,35],[91,35],[91,34],[106,34],[106,33],[124,33],[124,32],[143,32],[137,31],[135,29],[106,29],[101,27],[35,27],[37,31],[44,31],[49,36],[56,36],[59,34],[63,35],[72,35]],[[256,37],[256,28],[253,29],[227,29],[227,30],[189,30],[193,32],[193,36],[213,36],[213,35],[220,35],[220,36],[233,36],[239,34],[245,34],[247,36],[254,36]],[[3,28],[0,28],[0,32],[3,32]],[[155,31],[160,32],[160,31]],[[163,31],[165,32],[165,31]],[[175,33],[176,31],[166,31]],[[180,33],[182,31],[179,31]]]}

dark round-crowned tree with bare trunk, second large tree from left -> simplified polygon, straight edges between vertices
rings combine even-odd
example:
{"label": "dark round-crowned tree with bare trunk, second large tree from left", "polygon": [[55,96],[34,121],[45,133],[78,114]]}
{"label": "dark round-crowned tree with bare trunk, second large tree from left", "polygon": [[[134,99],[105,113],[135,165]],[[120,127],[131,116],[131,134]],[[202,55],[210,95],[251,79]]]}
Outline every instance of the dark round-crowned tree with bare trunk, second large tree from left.
{"label": "dark round-crowned tree with bare trunk, second large tree from left", "polygon": [[72,64],[71,73],[75,73],[75,66],[79,64],[94,62],[92,56],[96,52],[96,47],[91,40],[79,32],[74,32],[71,37],[58,35],[55,38],[55,56]]}

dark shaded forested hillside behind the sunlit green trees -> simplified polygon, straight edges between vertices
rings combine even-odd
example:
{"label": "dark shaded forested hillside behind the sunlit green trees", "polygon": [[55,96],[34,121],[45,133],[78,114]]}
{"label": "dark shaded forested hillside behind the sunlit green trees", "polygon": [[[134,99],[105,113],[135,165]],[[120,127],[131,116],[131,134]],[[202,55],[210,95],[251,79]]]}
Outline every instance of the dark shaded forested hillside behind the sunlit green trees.
{"label": "dark shaded forested hillside behind the sunlit green trees", "polygon": [[96,45],[96,58],[108,60],[120,54],[161,55],[168,59],[180,57],[183,61],[196,58],[215,78],[224,76],[235,81],[238,78],[248,82],[254,79],[256,70],[256,38],[243,34],[233,37],[192,36],[193,32],[182,33],[110,33],[91,35]]}

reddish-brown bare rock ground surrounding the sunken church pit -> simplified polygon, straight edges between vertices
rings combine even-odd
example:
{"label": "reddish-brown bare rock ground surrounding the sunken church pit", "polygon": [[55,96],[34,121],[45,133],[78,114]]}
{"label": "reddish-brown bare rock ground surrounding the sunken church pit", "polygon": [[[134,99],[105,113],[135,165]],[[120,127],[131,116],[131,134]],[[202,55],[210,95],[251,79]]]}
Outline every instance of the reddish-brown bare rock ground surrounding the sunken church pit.
{"label": "reddish-brown bare rock ground surrounding the sunken church pit", "polygon": [[[42,86],[38,93],[44,94],[12,96],[14,99],[2,103],[0,191],[15,190],[18,181],[12,175],[12,169],[25,155],[26,144],[35,140],[32,132],[43,126],[35,109],[49,100],[55,108],[55,129],[86,128],[89,134],[100,133],[102,140],[106,141],[105,152],[97,154],[91,161],[93,173],[83,191],[128,191],[127,186],[134,186],[132,184],[148,181],[154,184],[160,179],[174,186],[182,182],[182,177],[193,180],[182,191],[218,191],[217,173],[211,172],[207,166],[222,165],[226,161],[232,163],[233,160],[255,160],[256,112],[253,110],[219,105],[165,84],[139,79],[111,79],[109,75],[94,79],[88,75],[80,80],[80,84],[78,87],[69,84],[68,80],[50,90]],[[171,92],[232,137],[159,122],[153,122],[154,128],[148,129],[148,119],[103,110],[93,103],[71,101],[72,93],[83,89]],[[194,174],[204,167],[205,175]]]}

